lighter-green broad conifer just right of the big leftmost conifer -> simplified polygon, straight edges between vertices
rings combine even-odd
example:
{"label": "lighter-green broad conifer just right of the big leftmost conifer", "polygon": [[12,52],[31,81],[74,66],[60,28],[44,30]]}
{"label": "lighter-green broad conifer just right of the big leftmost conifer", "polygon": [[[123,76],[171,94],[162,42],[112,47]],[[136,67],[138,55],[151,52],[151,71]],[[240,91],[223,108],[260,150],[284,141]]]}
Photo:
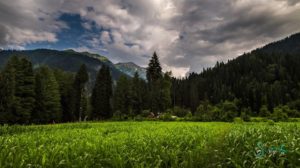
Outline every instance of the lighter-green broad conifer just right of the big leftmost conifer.
{"label": "lighter-green broad conifer just right of the big leftmost conifer", "polygon": [[59,86],[48,67],[40,67],[35,75],[36,103],[32,114],[35,123],[60,122],[62,118]]}

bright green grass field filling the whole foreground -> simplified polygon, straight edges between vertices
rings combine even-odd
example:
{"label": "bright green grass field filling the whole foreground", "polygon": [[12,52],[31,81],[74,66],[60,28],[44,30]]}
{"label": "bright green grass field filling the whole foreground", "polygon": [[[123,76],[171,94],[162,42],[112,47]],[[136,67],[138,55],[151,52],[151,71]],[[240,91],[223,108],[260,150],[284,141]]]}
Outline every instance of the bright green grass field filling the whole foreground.
{"label": "bright green grass field filling the whole foreground", "polygon": [[0,127],[0,167],[297,167],[300,123]]}

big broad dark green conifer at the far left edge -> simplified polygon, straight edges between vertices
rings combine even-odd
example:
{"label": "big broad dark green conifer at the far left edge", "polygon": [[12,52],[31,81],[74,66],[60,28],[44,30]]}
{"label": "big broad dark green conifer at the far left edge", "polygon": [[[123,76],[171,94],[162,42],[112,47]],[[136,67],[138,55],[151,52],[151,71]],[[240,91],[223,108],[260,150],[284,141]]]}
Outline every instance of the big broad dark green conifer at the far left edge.
{"label": "big broad dark green conifer at the far left edge", "polygon": [[1,92],[4,95],[0,118],[10,123],[28,123],[34,108],[34,74],[31,62],[24,57],[13,56],[2,74]]}

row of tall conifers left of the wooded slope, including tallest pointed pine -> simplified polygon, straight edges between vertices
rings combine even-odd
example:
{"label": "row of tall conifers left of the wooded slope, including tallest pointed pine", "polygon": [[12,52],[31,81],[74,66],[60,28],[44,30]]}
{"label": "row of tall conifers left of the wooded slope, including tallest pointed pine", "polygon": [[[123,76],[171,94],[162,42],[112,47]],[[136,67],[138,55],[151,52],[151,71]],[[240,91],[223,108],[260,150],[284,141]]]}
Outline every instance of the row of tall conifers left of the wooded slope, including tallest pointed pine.
{"label": "row of tall conifers left of the wooded slope, including tallest pointed pine", "polygon": [[[12,56],[0,72],[0,123],[29,124],[125,119],[154,114],[171,105],[169,73],[163,74],[154,53],[144,81],[121,76],[113,83],[110,68],[103,65],[92,89],[82,65],[76,74],[47,66],[35,67],[25,56]],[[91,91],[90,91],[91,90]]]}

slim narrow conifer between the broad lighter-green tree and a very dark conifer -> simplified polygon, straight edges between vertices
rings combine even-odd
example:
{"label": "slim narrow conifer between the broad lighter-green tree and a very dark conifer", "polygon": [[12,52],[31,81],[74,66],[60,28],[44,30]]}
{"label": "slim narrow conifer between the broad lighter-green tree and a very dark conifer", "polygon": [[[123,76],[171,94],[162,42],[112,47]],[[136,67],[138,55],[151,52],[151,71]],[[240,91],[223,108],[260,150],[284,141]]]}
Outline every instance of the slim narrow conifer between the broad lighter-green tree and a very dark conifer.
{"label": "slim narrow conifer between the broad lighter-green tree and a very dark conifer", "polygon": [[81,65],[73,84],[73,112],[77,120],[81,121],[87,115],[86,83],[89,80],[86,66]]}

